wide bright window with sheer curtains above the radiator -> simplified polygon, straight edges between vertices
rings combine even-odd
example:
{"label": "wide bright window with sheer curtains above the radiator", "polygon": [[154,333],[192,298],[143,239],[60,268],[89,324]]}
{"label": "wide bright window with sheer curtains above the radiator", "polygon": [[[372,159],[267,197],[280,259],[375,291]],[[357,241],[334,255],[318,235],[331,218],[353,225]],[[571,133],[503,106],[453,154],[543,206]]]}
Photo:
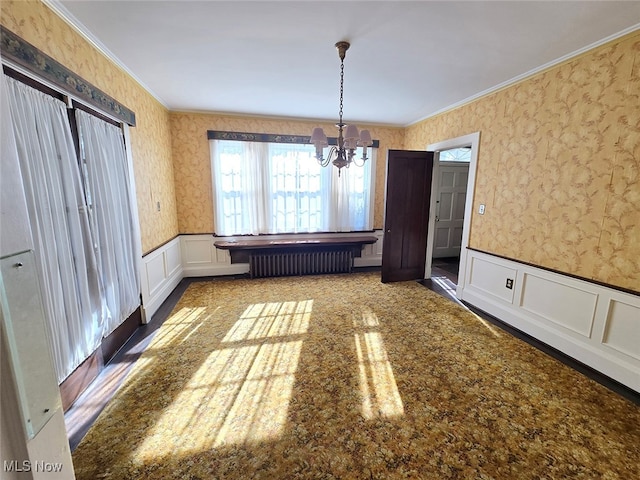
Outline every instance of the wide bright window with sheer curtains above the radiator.
{"label": "wide bright window with sheer curtains above the radiator", "polygon": [[371,229],[374,148],[364,167],[338,176],[318,164],[310,144],[210,140],[210,147],[218,235]]}

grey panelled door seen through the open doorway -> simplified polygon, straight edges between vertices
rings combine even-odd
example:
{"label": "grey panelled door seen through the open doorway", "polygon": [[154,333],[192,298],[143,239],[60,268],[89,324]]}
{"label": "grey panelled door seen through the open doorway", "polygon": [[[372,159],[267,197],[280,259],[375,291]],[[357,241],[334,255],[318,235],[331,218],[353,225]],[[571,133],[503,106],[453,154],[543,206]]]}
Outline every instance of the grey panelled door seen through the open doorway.
{"label": "grey panelled door seen through the open doorway", "polygon": [[468,177],[468,163],[440,162],[433,258],[460,256]]}

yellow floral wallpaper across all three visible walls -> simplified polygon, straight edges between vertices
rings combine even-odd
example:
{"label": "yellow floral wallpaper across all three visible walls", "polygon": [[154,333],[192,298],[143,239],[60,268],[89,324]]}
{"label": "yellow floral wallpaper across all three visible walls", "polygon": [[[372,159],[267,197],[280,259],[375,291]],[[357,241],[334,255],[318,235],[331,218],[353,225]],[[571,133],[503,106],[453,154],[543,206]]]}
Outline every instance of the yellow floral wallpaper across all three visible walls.
{"label": "yellow floral wallpaper across all three visible walls", "polygon": [[[213,232],[207,130],[308,135],[316,126],[168,112],[40,1],[3,1],[0,13],[7,29],[135,112],[144,252],[178,233]],[[639,92],[636,31],[407,128],[371,127],[380,140],[374,227],[383,226],[388,149],[480,131],[474,204],[486,212],[473,214],[470,246],[640,291]]]}

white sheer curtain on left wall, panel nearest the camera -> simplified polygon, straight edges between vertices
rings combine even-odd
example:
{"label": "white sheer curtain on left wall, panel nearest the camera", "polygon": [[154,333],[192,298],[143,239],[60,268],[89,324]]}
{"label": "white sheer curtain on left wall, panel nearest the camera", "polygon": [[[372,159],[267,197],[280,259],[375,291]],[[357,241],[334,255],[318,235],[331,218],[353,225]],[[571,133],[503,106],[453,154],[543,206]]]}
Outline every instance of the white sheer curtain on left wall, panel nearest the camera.
{"label": "white sheer curtain on left wall, panel nearest the camera", "polygon": [[61,382],[100,344],[106,306],[66,106],[3,77]]}

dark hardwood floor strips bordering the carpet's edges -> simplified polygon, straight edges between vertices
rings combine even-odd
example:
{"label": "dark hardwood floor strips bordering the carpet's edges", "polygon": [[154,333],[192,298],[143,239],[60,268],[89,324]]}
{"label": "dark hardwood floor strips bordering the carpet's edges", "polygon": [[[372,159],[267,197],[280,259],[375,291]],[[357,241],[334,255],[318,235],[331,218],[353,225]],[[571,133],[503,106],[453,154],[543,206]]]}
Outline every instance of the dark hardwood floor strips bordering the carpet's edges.
{"label": "dark hardwood floor strips bordering the carpet's edges", "polygon": [[[379,268],[367,268],[366,270],[379,270]],[[65,423],[72,451],[75,450],[76,446],[80,443],[100,412],[102,412],[106,404],[113,397],[131,367],[149,345],[154,334],[167,319],[173,310],[173,307],[176,305],[187,287],[193,282],[219,281],[221,279],[229,278],[230,277],[203,277],[183,279],[153,316],[151,322],[138,328],[129,341],[116,353],[94,382],[84,391],[84,393],[80,395],[80,397],[78,397],[76,402],[65,414]],[[449,298],[451,301],[456,302],[464,308],[471,310],[484,320],[491,322],[493,325],[512,334],[513,336],[528,342],[539,350],[601,383],[605,387],[627,398],[635,404],[640,405],[640,394],[638,392],[635,392],[609,377],[596,372],[590,367],[575,361],[562,352],[520,332],[491,315],[458,300],[455,296],[457,281],[457,261],[455,259],[439,259],[437,262],[434,261],[431,278],[422,280],[419,283],[439,295]]]}

